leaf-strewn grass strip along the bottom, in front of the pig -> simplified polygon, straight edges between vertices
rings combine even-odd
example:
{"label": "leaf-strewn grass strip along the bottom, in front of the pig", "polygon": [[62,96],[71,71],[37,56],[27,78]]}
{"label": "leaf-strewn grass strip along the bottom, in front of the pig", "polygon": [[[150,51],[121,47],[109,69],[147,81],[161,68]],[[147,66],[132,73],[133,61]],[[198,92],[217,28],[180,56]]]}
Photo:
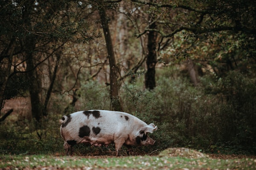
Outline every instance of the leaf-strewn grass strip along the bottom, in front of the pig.
{"label": "leaf-strewn grass strip along the bottom, in front of the pig", "polygon": [[162,153],[158,156],[81,157],[53,155],[0,155],[0,169],[239,169],[256,170],[255,158],[191,158]]}

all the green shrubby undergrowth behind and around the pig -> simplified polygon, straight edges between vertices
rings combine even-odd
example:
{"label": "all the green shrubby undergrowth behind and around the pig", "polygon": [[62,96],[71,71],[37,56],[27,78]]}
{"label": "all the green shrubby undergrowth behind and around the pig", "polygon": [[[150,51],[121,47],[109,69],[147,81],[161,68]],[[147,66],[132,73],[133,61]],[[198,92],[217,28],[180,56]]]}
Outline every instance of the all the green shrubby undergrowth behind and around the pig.
{"label": "all the green shrubby undergrowth behind and around the pig", "polygon": [[[157,73],[157,87],[143,89],[141,77],[120,88],[124,112],[137,116],[158,130],[150,134],[156,143],[150,147],[123,147],[122,155],[157,154],[168,147],[190,147],[208,153],[256,153],[255,79],[239,72],[225,78],[201,78],[194,87],[186,78],[174,78],[169,69]],[[141,76],[140,74],[139,76]],[[138,76],[138,77],[139,77]],[[79,103],[69,113],[87,109],[109,109],[108,86],[84,83]],[[58,119],[64,114],[58,98],[40,130],[33,121],[0,124],[0,153],[64,154]],[[69,114],[67,113],[67,114]],[[114,146],[74,148],[77,155],[114,155]]]}

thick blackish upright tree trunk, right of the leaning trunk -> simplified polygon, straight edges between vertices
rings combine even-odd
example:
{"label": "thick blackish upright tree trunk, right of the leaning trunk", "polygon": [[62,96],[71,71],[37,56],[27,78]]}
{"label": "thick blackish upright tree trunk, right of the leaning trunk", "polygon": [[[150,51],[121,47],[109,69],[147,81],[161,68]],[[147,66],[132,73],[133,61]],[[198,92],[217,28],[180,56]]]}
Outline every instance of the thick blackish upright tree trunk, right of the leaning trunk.
{"label": "thick blackish upright tree trunk, right of the leaning trunk", "polygon": [[[149,16],[149,18],[151,18]],[[156,24],[152,23],[149,26],[149,29],[155,29]],[[148,33],[148,45],[147,45],[147,72],[145,74],[145,87],[146,89],[154,89],[156,87],[156,81],[155,81],[155,66],[157,63],[157,32],[150,31]]]}

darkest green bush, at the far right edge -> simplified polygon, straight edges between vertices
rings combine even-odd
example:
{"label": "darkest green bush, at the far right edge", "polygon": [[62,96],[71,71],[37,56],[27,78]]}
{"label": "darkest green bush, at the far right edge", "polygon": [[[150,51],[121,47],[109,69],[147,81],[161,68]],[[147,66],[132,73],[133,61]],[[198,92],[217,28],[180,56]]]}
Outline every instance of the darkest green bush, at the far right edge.
{"label": "darkest green bush, at the far right edge", "polygon": [[[255,79],[240,72],[229,72],[226,78],[219,79],[215,91],[222,99],[218,127],[222,132],[222,142],[232,148],[256,152],[256,90]],[[236,149],[237,150],[237,149]]]}

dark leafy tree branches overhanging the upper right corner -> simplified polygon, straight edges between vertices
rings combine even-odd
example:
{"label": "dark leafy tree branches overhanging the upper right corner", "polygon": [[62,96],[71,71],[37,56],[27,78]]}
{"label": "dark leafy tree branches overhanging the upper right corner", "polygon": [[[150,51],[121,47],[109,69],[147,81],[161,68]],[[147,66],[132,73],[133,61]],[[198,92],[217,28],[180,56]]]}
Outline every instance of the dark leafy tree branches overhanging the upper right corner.
{"label": "dark leafy tree branches overhanging the upper right corner", "polygon": [[[197,84],[194,62],[197,63],[200,60],[207,60],[209,61],[208,64],[211,64],[212,58],[200,58],[200,60],[196,60],[191,55],[191,51],[198,44],[204,43],[205,41],[212,43],[212,39],[216,38],[216,36],[221,38],[225,35],[238,35],[236,38],[240,39],[241,49],[244,49],[242,52],[244,58],[255,58],[255,46],[252,45],[254,44],[253,40],[256,38],[255,2],[242,2],[240,0],[190,1],[186,3],[180,0],[171,2],[163,0],[157,0],[155,2],[150,0],[131,1],[140,6],[154,6],[154,9],[151,8],[147,13],[154,13],[154,16],[157,17],[156,27],[152,28],[152,24],[148,20],[148,24],[143,26],[143,31],[138,32],[138,37],[150,32],[157,32],[160,37],[157,48],[158,52],[172,45],[171,43],[174,43],[175,35],[182,35],[184,37],[185,46],[180,48],[180,50],[176,50],[177,52],[172,53],[170,57],[187,58],[189,75],[194,84]],[[140,15],[137,15],[137,18],[140,18]],[[145,20],[145,17],[141,19]],[[225,48],[229,47],[226,46]],[[230,61],[234,65],[236,64],[233,58],[226,61],[226,64],[229,66],[231,66]]]}

